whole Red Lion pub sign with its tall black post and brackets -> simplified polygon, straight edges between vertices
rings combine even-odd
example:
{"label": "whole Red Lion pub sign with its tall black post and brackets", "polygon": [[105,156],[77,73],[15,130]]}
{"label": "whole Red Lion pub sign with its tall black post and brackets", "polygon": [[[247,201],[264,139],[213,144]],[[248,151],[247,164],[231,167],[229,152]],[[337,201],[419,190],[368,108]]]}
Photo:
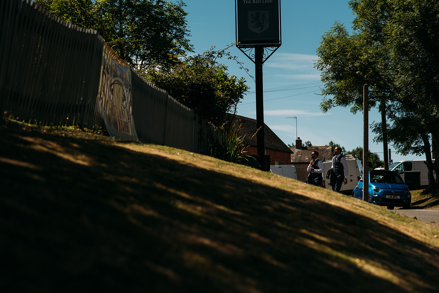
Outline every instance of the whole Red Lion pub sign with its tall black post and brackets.
{"label": "whole Red Lion pub sign with its tall black post and brackets", "polygon": [[235,0],[235,22],[236,47],[255,63],[258,163],[261,170],[267,170],[262,65],[282,44],[281,0]]}

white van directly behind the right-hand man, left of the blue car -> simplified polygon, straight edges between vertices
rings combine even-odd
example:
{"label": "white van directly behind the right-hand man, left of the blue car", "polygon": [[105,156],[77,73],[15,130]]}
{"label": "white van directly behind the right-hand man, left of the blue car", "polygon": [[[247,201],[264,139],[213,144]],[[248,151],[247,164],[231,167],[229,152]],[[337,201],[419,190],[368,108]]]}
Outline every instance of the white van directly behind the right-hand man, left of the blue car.
{"label": "white van directly behind the right-hand man, left of the blue car", "polygon": [[[352,195],[352,192],[357,184],[360,181],[360,177],[363,174],[363,165],[361,164],[360,159],[356,155],[345,155],[346,163],[348,164],[348,183],[342,184],[342,188],[340,188],[340,192]],[[326,189],[332,190],[331,180],[326,179],[326,174],[332,166],[332,158],[329,161],[323,162],[323,187]]]}

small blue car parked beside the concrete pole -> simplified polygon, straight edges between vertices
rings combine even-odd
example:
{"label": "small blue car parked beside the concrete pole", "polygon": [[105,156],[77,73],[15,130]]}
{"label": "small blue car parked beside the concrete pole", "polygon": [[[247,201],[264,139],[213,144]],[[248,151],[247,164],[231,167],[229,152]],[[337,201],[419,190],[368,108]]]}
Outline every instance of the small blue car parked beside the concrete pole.
{"label": "small blue car parked beside the concrete pole", "polygon": [[[352,196],[363,199],[363,176],[356,184]],[[410,208],[411,193],[398,173],[387,170],[369,171],[369,203],[387,206],[393,210],[395,206]]]}

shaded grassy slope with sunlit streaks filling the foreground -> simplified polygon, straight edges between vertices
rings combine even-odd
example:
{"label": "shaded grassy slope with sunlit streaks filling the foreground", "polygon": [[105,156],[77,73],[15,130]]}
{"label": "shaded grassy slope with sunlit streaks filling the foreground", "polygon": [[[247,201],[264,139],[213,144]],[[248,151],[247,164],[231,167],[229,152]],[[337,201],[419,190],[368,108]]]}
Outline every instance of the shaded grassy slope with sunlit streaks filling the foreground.
{"label": "shaded grassy slope with sunlit streaks filling the foreground", "polygon": [[11,292],[438,292],[439,228],[285,177],[0,126]]}

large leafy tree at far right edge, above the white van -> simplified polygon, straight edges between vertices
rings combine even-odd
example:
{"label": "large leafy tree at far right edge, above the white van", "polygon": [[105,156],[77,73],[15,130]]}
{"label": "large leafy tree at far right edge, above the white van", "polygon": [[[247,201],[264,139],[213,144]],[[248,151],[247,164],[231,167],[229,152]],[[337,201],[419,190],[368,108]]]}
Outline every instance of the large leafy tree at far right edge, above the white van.
{"label": "large leafy tree at far right edge, above the white van", "polygon": [[[417,155],[424,152],[429,188],[437,190],[439,178],[434,180],[433,173],[439,171],[439,154],[435,154],[433,163],[429,138],[433,147],[439,144],[439,3],[426,0],[352,2],[361,9],[369,7],[375,19],[385,20],[379,26],[392,57],[398,94],[398,102],[388,111],[393,125],[387,133],[398,152]],[[364,19],[364,23],[371,23],[368,17]]]}

